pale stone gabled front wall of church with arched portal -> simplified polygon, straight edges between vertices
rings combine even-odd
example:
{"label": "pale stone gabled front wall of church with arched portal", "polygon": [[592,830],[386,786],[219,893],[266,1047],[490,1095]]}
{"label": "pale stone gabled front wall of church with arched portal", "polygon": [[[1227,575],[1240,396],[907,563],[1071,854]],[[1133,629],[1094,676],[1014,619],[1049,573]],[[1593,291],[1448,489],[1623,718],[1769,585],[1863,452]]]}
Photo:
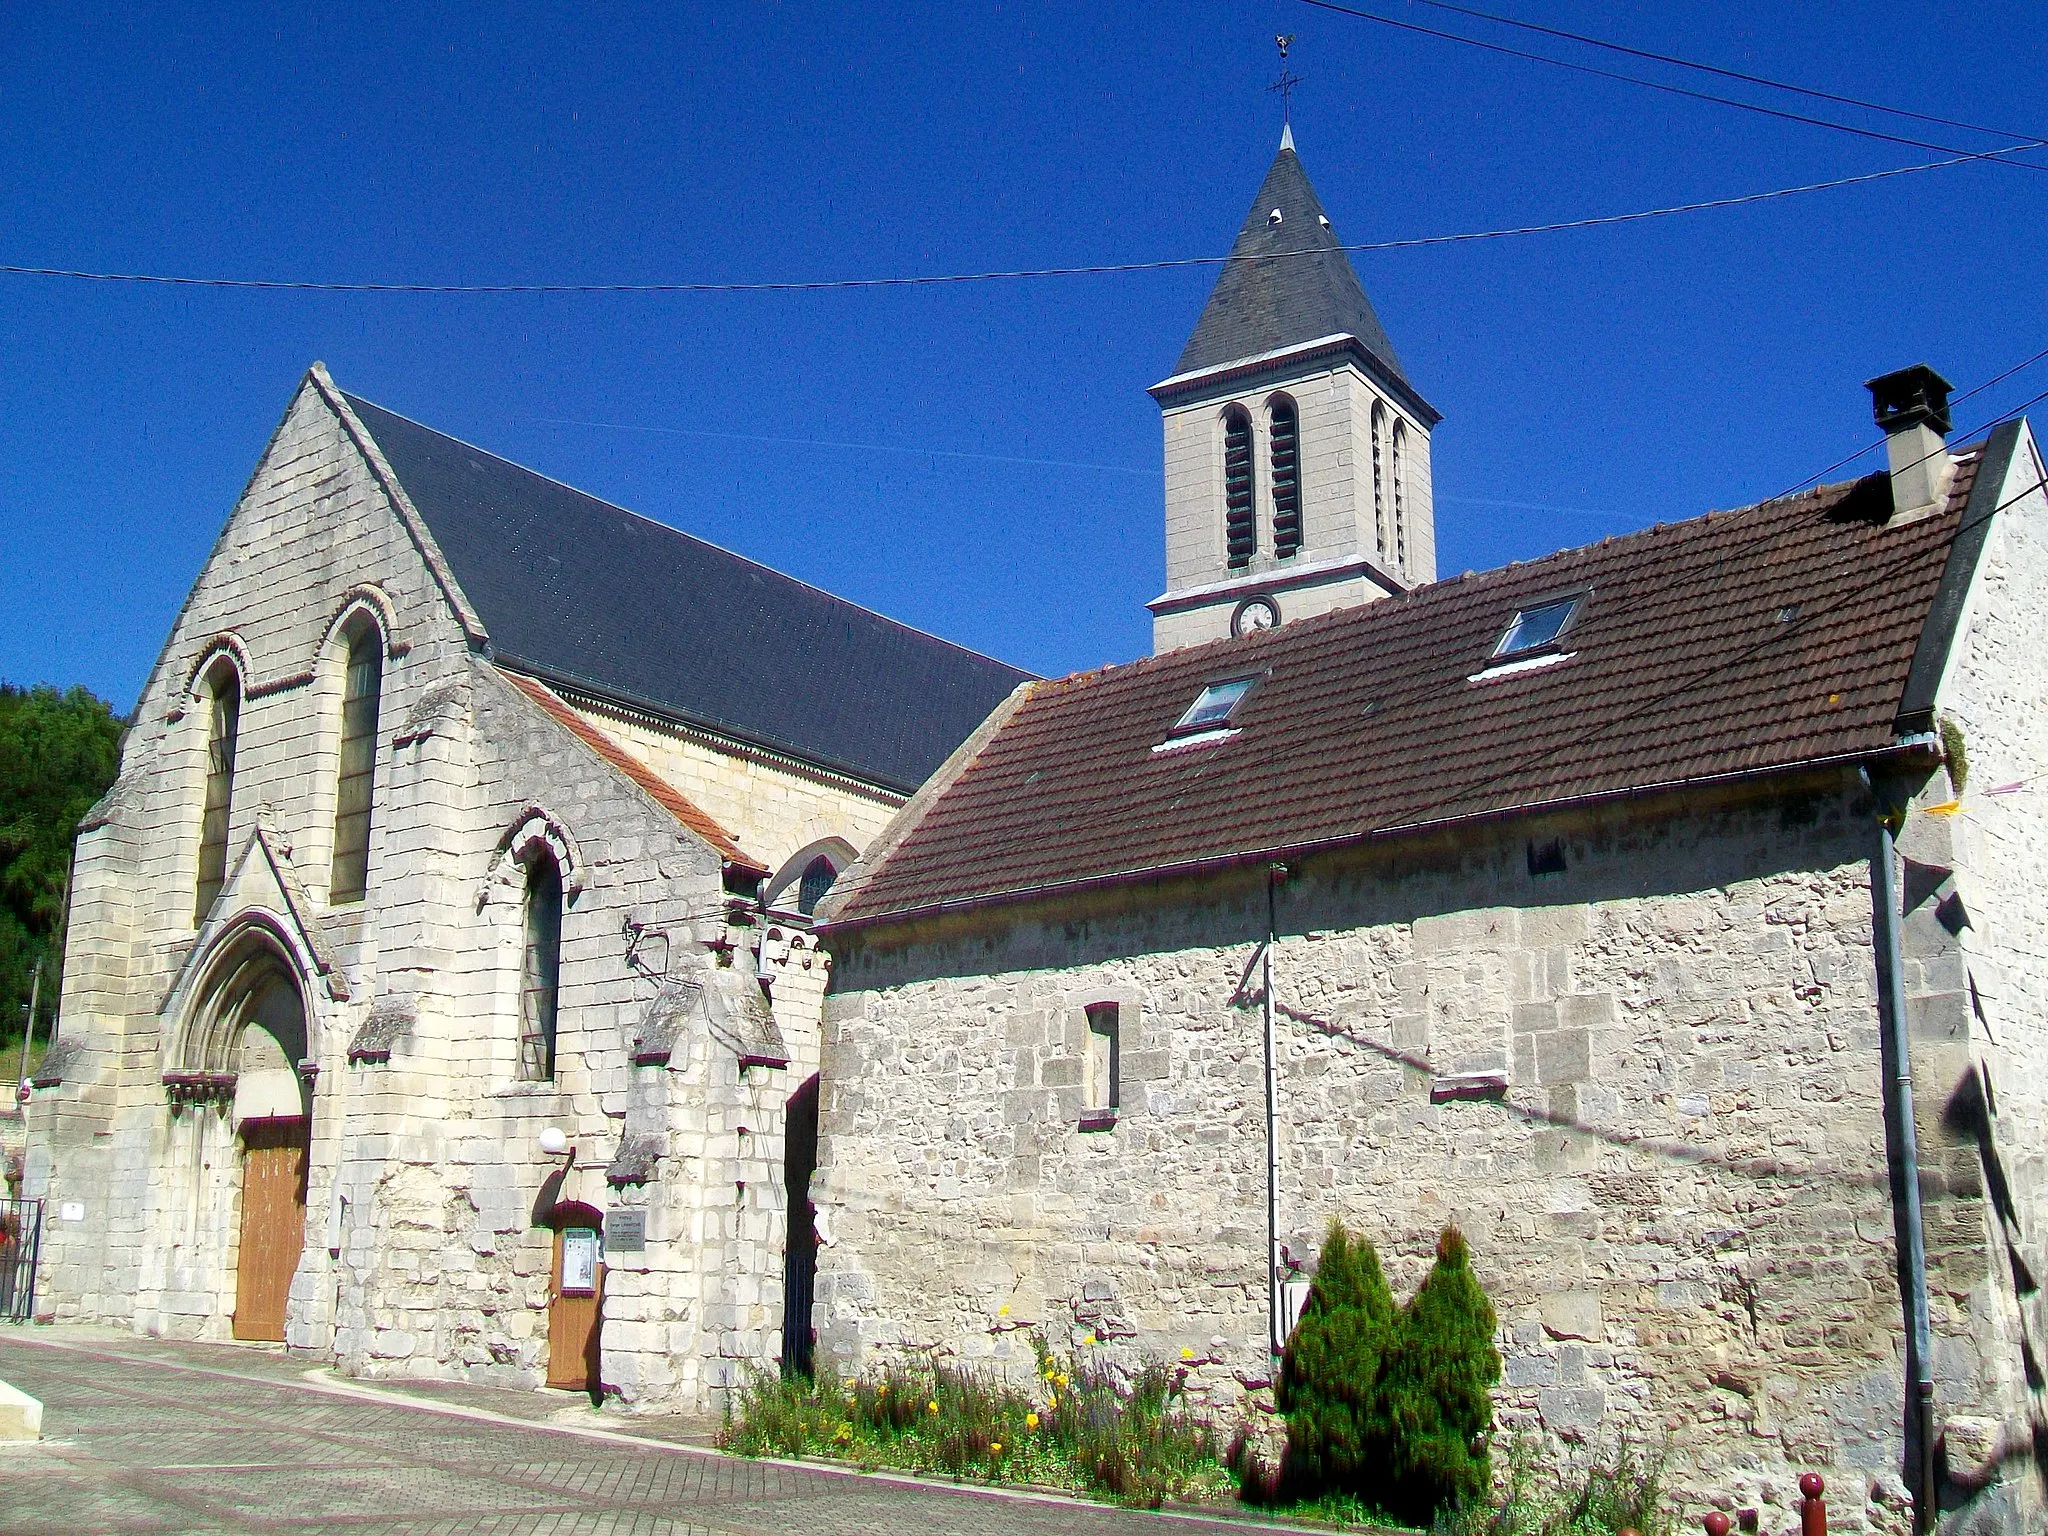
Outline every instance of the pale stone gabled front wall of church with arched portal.
{"label": "pale stone gabled front wall of church with arched portal", "polygon": [[[369,897],[330,907],[330,631],[362,586],[377,588],[393,651]],[[195,932],[205,711],[186,680],[219,635],[246,659],[231,879]],[[49,1227],[55,1315],[227,1337],[240,1143],[217,1108],[172,1112],[162,1073],[209,956],[262,915],[303,963],[317,1065],[291,1348],[362,1374],[539,1382],[543,1219],[580,1200],[647,1210],[645,1253],[612,1253],[606,1278],[604,1380],[627,1403],[705,1409],[737,1362],[776,1354],[782,1106],[815,1071],[823,961],[799,934],[768,944],[768,975],[791,973],[776,995],[788,1069],[741,1067],[702,1010],[668,1065],[631,1065],[664,979],[756,987],[719,858],[471,653],[315,389],[201,573],[96,819],[78,850],[61,1006],[84,1059],[35,1106],[49,1135],[33,1192],[84,1212]],[[522,889],[506,842],[522,823],[567,858],[553,1083],[518,1081],[516,1065]],[[373,1012],[406,1020],[389,1061],[350,1063]],[[569,1133],[567,1167],[539,1149],[549,1124]],[[629,1137],[651,1143],[653,1171],[612,1186],[606,1165]]]}

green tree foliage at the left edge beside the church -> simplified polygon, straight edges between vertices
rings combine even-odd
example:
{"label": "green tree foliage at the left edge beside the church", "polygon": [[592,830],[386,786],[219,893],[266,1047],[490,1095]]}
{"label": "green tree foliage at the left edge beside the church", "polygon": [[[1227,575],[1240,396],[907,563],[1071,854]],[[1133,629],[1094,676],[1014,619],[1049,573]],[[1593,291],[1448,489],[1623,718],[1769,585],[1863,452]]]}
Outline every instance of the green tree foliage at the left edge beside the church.
{"label": "green tree foliage at the left edge beside the church", "polygon": [[37,1034],[55,1016],[72,840],[115,782],[119,748],[106,700],[0,682],[0,1040],[20,1034],[39,956]]}

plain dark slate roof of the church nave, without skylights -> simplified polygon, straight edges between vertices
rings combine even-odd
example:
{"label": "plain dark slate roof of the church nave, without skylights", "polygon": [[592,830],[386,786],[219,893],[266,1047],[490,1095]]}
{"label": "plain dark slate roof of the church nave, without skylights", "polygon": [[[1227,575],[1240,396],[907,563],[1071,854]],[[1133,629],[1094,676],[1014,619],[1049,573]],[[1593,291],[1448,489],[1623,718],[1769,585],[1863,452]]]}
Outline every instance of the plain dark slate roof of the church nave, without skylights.
{"label": "plain dark slate roof of the church nave, without skylights", "polygon": [[506,666],[903,793],[1030,676],[344,399]]}

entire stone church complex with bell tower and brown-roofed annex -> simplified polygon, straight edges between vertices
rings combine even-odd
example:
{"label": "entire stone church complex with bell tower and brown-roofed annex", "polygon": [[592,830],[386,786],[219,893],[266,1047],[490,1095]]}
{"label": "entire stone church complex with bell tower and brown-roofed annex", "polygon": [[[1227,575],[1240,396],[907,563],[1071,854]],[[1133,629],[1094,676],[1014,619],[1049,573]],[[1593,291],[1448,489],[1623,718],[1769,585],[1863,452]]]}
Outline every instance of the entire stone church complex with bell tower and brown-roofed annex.
{"label": "entire stone church complex with bell tower and brown-roofed annex", "polygon": [[1438,580],[1288,135],[1151,387],[1153,655],[1038,680],[315,365],[80,831],[55,1315],[1239,1415],[1333,1219],[1399,1294],[1456,1223],[1503,1432],[2038,1522],[2044,471],[1868,389],[1884,471]]}

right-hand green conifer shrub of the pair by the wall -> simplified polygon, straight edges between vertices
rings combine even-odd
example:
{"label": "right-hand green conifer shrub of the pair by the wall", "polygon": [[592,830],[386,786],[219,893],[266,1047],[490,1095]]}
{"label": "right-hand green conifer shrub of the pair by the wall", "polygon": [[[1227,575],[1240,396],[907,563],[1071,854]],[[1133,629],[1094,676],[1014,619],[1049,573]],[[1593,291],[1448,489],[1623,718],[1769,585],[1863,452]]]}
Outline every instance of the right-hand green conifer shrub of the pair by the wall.
{"label": "right-hand green conifer shrub of the pair by the wall", "polygon": [[1491,1497],[1489,1389],[1501,1378],[1493,1329],[1464,1235],[1446,1227],[1380,1364],[1370,1438],[1386,1446],[1386,1481],[1374,1493],[1391,1516],[1427,1526],[1438,1511]]}

